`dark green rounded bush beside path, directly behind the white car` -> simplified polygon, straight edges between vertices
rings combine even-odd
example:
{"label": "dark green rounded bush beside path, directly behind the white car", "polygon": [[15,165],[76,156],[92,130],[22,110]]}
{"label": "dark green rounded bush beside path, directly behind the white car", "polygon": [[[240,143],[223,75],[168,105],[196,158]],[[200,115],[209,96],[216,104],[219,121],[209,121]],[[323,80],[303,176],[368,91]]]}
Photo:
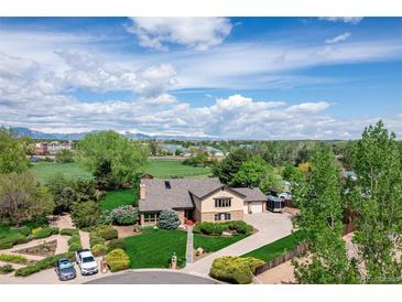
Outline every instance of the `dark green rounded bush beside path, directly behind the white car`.
{"label": "dark green rounded bush beside path, directly behind the white car", "polygon": [[70,214],[74,225],[78,228],[94,226],[100,218],[99,206],[93,201],[73,203]]}

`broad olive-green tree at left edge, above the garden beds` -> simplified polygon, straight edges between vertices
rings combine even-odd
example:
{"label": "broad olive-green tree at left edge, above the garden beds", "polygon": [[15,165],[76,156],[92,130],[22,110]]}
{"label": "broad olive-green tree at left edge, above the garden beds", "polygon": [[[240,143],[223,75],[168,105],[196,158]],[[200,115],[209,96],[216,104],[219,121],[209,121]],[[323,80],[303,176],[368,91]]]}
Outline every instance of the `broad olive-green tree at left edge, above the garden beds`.
{"label": "broad olive-green tree at left edge, above the garden beds", "polygon": [[0,175],[0,216],[17,224],[53,212],[52,194],[30,171]]}

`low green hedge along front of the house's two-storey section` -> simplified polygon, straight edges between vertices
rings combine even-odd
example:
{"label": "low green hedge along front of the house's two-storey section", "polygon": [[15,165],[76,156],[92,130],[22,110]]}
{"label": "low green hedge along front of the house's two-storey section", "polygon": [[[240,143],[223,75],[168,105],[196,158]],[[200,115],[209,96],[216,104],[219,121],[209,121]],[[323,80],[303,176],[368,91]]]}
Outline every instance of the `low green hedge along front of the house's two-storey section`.
{"label": "low green hedge along front of the house's two-storey section", "polygon": [[220,236],[224,231],[235,234],[250,234],[252,230],[253,227],[242,220],[226,223],[196,223],[193,228],[194,233],[215,236]]}

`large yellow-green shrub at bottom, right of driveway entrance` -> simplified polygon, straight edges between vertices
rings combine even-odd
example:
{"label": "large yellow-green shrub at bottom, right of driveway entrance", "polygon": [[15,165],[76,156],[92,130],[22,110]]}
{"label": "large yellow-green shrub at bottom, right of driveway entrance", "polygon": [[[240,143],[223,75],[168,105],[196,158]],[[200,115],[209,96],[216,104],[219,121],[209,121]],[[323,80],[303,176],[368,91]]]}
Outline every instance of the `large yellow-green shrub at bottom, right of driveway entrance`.
{"label": "large yellow-green shrub at bottom, right of driveway entrance", "polygon": [[210,277],[236,284],[251,283],[256,269],[264,261],[252,257],[221,257],[214,260]]}

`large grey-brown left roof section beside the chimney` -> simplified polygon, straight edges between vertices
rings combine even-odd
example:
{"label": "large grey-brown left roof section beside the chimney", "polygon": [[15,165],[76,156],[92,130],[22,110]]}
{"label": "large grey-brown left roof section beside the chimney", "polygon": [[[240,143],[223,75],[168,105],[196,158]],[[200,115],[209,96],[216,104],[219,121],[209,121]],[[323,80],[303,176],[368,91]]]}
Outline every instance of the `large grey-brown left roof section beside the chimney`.
{"label": "large grey-brown left roof section beside the chimney", "polygon": [[[166,188],[165,182],[171,188]],[[174,179],[174,180],[141,180],[145,185],[145,199],[140,201],[141,212],[163,211],[170,208],[193,208],[191,194],[204,197],[219,188],[222,184],[218,179]]]}

